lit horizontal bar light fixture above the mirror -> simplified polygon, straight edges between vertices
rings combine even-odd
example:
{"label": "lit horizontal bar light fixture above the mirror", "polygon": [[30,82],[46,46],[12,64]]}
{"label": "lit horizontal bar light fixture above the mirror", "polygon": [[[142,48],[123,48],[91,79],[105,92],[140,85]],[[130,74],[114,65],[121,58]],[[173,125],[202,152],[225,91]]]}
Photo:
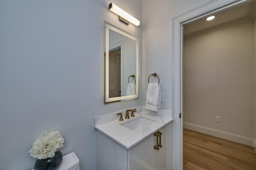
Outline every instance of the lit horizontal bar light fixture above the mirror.
{"label": "lit horizontal bar light fixture above the mirror", "polygon": [[122,10],[121,8],[119,8],[118,6],[116,6],[113,3],[110,3],[108,6],[109,10],[114,12],[115,14],[117,14],[119,16],[119,20],[121,20],[122,22],[126,23],[126,24],[134,24],[135,26],[139,26],[140,25],[140,21],[137,20],[136,18],[134,18],[133,16],[131,16],[130,14],[128,14],[127,12],[125,12],[124,10]]}

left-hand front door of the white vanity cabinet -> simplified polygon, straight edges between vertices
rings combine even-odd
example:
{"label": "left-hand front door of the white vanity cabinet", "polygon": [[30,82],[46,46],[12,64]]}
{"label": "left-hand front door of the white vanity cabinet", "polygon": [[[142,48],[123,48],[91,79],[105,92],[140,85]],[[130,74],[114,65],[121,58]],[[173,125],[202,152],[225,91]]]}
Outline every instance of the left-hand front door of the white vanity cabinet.
{"label": "left-hand front door of the white vanity cabinet", "polygon": [[149,136],[128,150],[128,170],[156,170],[156,138]]}

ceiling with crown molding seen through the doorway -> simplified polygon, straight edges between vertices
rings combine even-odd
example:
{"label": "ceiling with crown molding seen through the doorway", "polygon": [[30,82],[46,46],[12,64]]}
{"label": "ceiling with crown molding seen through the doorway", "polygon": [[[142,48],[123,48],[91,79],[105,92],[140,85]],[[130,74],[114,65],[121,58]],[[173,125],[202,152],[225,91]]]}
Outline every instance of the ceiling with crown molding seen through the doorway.
{"label": "ceiling with crown molding seen through the doorway", "polygon": [[[215,18],[213,20],[206,21],[206,18],[212,15],[214,15]],[[248,21],[253,21],[256,16],[256,1],[254,0],[253,2],[246,3],[241,6],[236,6],[234,8],[229,8],[209,16],[184,25],[184,36],[193,34],[195,32],[200,32],[214,26],[220,26],[224,23],[239,20],[241,18],[245,18]]]}

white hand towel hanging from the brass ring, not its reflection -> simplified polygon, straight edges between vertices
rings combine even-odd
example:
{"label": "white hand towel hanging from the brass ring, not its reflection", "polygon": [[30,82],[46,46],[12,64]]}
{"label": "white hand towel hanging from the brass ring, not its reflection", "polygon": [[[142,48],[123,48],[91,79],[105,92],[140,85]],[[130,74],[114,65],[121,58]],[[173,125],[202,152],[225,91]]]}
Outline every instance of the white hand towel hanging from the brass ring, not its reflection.
{"label": "white hand towel hanging from the brass ring, not its reflection", "polygon": [[161,88],[158,83],[148,84],[145,108],[155,112],[161,108]]}

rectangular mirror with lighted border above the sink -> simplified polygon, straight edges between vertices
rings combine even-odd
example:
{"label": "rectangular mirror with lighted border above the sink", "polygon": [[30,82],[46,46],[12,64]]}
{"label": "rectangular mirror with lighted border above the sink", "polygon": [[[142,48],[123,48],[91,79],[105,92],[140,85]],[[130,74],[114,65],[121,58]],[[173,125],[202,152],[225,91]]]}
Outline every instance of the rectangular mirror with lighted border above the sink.
{"label": "rectangular mirror with lighted border above the sink", "polygon": [[105,22],[105,103],[138,99],[139,38]]}

